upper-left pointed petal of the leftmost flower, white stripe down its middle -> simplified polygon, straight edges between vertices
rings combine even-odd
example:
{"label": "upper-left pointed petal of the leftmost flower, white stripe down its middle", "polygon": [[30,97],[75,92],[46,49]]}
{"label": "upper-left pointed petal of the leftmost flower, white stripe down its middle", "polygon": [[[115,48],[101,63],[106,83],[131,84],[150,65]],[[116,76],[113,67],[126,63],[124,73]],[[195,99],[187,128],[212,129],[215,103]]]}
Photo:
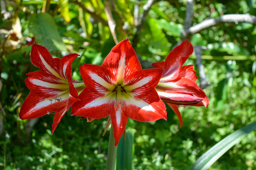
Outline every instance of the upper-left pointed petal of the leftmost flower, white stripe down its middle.
{"label": "upper-left pointed petal of the leftmost flower, white stripe down its middle", "polygon": [[31,48],[30,60],[41,71],[46,71],[60,78],[57,73],[57,64],[60,59],[52,58],[52,55],[44,46],[34,43]]}

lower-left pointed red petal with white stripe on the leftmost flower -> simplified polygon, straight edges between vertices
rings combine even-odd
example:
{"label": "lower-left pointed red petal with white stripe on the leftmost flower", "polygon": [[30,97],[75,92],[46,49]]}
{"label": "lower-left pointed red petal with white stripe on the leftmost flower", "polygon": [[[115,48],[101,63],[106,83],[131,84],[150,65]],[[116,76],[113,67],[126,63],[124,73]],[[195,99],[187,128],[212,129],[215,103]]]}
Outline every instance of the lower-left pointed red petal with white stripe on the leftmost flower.
{"label": "lower-left pointed red petal with white stripe on the leftmost flower", "polygon": [[34,119],[55,112],[56,108],[52,106],[48,99],[39,98],[30,92],[20,109],[20,119]]}

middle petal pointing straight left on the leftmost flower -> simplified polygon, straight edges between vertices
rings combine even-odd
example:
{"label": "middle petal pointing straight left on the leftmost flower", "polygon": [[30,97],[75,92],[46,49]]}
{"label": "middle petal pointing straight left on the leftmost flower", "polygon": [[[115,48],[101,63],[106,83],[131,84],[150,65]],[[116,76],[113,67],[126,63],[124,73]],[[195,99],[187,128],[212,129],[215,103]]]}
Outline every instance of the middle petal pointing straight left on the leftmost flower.
{"label": "middle petal pointing straight left on the leftmost flower", "polygon": [[26,86],[38,97],[53,98],[69,90],[67,82],[45,71],[30,72],[27,76]]}

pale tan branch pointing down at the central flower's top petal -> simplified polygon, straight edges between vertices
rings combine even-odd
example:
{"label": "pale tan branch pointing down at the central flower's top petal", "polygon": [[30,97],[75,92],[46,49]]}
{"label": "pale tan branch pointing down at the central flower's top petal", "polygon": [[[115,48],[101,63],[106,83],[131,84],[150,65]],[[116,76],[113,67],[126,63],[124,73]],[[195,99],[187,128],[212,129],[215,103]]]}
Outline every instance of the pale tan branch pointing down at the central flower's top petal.
{"label": "pale tan branch pointing down at the central flower's top petal", "polygon": [[112,13],[111,13],[111,9],[110,9],[110,6],[109,6],[109,2],[108,1],[105,1],[105,13],[106,13],[106,16],[107,16],[107,19],[108,19],[108,26],[109,26],[109,29],[110,29],[110,32],[113,36],[113,39],[115,41],[116,44],[118,44],[118,40],[117,40],[117,37],[116,37],[116,22],[115,20],[113,19],[113,16],[112,16]]}

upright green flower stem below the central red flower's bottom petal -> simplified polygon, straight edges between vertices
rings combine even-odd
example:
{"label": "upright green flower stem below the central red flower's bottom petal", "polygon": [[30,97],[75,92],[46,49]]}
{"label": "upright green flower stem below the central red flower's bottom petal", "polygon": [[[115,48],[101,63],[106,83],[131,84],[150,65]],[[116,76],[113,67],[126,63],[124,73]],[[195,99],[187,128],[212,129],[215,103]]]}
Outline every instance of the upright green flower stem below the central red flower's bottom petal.
{"label": "upright green flower stem below the central red flower's bottom petal", "polygon": [[115,170],[116,151],[117,151],[117,146],[115,146],[114,131],[111,125],[109,143],[108,143],[108,160],[107,160],[106,170]]}

